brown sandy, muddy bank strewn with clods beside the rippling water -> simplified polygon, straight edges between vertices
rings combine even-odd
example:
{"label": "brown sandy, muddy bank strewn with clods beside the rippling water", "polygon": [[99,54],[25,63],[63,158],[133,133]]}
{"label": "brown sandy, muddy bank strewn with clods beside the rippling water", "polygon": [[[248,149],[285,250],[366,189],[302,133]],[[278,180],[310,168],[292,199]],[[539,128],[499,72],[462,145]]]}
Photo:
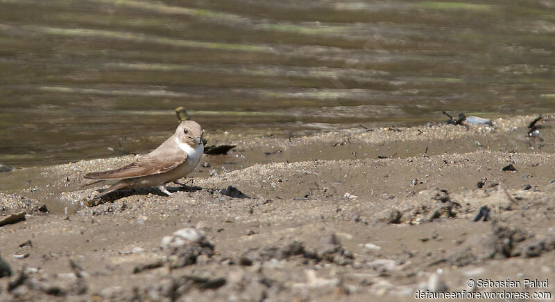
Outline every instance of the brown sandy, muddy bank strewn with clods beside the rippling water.
{"label": "brown sandy, muddy bank strewn with clods beside the rippling water", "polygon": [[[79,188],[133,156],[3,172],[0,214],[27,215],[0,227],[0,276],[11,271],[0,301],[412,301],[426,290],[554,301],[555,150],[528,139],[533,118],[209,134],[237,148],[205,156],[171,197],[93,201],[102,187]],[[521,284],[478,283],[506,279]]]}

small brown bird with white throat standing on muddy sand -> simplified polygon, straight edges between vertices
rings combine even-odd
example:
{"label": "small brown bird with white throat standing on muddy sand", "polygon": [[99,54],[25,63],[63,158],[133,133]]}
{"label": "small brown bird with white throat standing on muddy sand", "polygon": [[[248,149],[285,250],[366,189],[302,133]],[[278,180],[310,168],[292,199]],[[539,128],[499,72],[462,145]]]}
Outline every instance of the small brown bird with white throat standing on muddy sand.
{"label": "small brown bird with white throat standing on muddy sand", "polygon": [[[85,175],[87,179],[109,181],[117,179],[117,183],[104,190],[95,198],[121,188],[157,187],[168,196],[166,184],[173,182],[184,186],[178,181],[192,172],[203,157],[204,130],[195,121],[182,121],[176,133],[169,137],[153,152],[142,155],[137,161],[115,170],[92,172]],[[96,184],[96,182],[92,183]]]}

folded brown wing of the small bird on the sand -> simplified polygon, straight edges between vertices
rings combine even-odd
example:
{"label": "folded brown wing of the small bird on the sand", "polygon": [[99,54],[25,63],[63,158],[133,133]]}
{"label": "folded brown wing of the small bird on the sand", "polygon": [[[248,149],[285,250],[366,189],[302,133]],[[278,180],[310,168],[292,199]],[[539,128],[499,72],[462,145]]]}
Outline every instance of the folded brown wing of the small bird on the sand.
{"label": "folded brown wing of the small bird on the sand", "polygon": [[173,157],[157,157],[147,154],[139,157],[137,161],[117,168],[115,170],[92,172],[84,177],[88,179],[126,179],[141,177],[147,175],[155,175],[168,172],[185,162],[187,154],[179,154]]}

